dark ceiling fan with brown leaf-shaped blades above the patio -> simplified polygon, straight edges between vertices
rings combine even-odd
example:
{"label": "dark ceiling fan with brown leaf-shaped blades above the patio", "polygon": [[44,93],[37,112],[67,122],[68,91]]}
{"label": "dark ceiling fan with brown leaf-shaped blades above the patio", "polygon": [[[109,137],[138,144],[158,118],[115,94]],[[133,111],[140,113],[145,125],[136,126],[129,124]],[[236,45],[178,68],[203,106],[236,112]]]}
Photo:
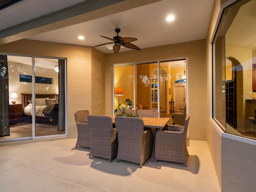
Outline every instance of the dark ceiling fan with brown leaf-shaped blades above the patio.
{"label": "dark ceiling fan with brown leaf-shaped blades above the patio", "polygon": [[100,35],[101,37],[112,40],[114,42],[103,43],[103,44],[100,44],[100,45],[96,45],[94,47],[114,43],[114,46],[113,46],[114,53],[118,53],[118,51],[120,50],[121,45],[124,46],[124,47],[130,48],[130,49],[140,50],[140,48],[138,48],[136,45],[130,43],[130,42],[136,41],[137,38],[133,38],[133,37],[124,37],[124,38],[122,38],[122,37],[118,36],[118,33],[121,31],[120,28],[116,28],[115,31],[117,33],[117,36],[114,36],[113,38],[109,38],[109,37],[105,37],[105,36]]}

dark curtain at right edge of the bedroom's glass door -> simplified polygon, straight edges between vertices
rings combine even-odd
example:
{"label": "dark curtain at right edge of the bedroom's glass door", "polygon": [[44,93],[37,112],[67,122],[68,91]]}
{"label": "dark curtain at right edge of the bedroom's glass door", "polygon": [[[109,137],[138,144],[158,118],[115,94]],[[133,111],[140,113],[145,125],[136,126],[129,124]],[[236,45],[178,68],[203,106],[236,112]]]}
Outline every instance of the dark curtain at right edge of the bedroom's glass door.
{"label": "dark curtain at right edge of the bedroom's glass door", "polygon": [[65,60],[59,59],[58,131],[65,130]]}

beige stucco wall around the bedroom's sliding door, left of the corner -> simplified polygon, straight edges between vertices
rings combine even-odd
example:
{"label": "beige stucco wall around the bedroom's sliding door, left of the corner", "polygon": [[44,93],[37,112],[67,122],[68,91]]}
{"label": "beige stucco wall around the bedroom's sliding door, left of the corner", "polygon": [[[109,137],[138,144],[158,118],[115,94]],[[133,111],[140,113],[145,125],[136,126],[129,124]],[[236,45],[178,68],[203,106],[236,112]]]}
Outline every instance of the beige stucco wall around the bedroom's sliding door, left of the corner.
{"label": "beige stucco wall around the bedroom's sliding door, left of the corner", "polygon": [[[76,110],[86,109],[92,114],[93,103],[98,102],[100,106],[105,105],[105,99],[98,99],[98,94],[94,95],[92,98],[92,54],[90,47],[23,39],[1,45],[0,52],[6,54],[67,58],[69,138],[76,138],[77,136],[74,120],[74,112]],[[104,67],[102,70],[104,70]],[[100,74],[102,74],[102,72],[100,72]],[[97,89],[97,86],[100,85],[95,84],[94,89]],[[100,98],[102,98],[102,96],[100,96]],[[100,107],[98,107],[97,110],[100,111]]]}

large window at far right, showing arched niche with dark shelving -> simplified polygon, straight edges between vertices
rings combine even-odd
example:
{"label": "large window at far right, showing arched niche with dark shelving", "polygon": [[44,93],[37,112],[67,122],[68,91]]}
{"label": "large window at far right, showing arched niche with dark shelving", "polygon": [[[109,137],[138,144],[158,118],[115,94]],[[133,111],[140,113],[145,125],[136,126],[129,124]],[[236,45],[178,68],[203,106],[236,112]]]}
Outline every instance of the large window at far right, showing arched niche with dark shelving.
{"label": "large window at far right, showing arched niche with dark shelving", "polygon": [[213,42],[213,118],[230,134],[256,139],[256,0],[224,9]]}

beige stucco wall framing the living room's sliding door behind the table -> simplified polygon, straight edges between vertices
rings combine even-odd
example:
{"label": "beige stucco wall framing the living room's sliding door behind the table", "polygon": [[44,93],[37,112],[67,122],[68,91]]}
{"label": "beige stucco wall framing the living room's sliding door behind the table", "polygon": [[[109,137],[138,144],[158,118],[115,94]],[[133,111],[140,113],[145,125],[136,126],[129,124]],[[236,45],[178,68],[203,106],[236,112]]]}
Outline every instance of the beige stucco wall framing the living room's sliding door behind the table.
{"label": "beige stucco wall framing the living room's sliding door behind the table", "polygon": [[[106,54],[106,100],[111,100],[111,65],[180,57],[188,57],[186,75],[189,102],[187,108],[191,114],[189,138],[206,140],[205,40]],[[110,102],[106,102],[106,114],[111,114]]]}

